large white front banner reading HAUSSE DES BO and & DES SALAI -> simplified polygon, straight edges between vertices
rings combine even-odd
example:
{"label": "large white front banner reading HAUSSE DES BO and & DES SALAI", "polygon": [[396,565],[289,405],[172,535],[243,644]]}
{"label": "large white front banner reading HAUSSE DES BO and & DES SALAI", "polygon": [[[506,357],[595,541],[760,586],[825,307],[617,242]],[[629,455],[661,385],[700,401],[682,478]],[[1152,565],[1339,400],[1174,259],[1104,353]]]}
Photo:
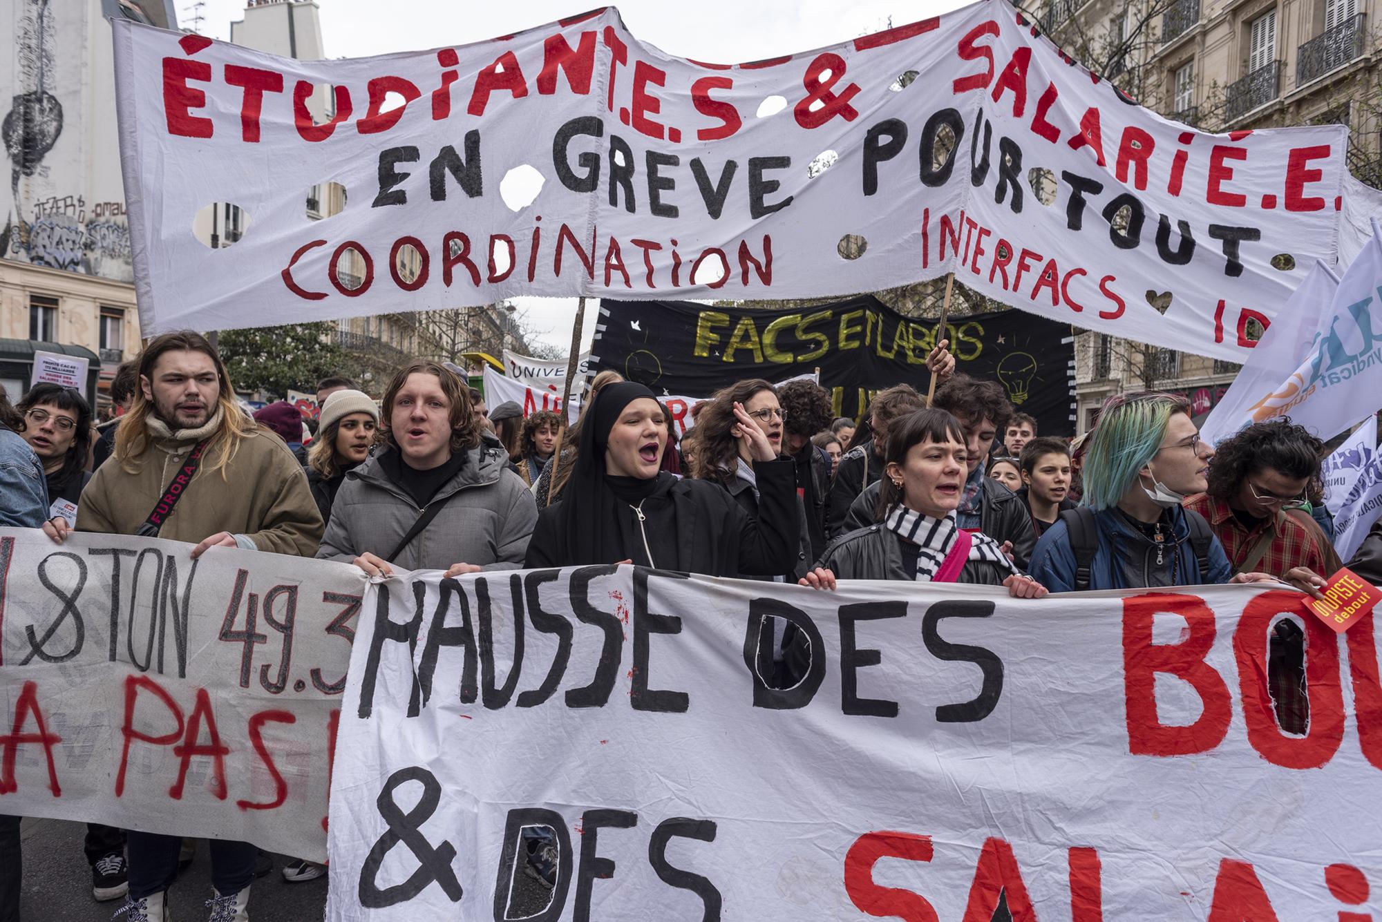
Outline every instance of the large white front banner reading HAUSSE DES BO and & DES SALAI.
{"label": "large white front banner reading HAUSSE DES BO and & DES SALAI", "polygon": [[[1376,627],[1335,635],[1291,589],[608,566],[370,591],[330,922],[988,922],[1001,892],[1020,922],[1262,922],[1352,911],[1379,872]],[[764,617],[808,642],[793,687],[757,678]],[[1269,697],[1280,618],[1303,621],[1305,736]]]}

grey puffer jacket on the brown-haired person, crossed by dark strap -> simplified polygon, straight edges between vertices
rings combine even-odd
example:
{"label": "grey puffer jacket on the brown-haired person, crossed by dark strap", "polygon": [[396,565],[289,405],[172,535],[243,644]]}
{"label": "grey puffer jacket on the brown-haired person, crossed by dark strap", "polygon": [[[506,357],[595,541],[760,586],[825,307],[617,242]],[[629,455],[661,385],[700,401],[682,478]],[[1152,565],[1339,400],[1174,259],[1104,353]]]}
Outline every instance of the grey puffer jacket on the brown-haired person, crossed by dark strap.
{"label": "grey puffer jacket on the brown-haired person, crossed by dark strap", "polygon": [[[404,570],[445,570],[453,563],[485,570],[522,566],[538,522],[532,493],[509,468],[498,443],[485,440],[467,454],[464,467],[431,502],[453,498],[390,563]],[[350,563],[369,551],[383,558],[422,513],[408,491],[388,479],[379,458],[369,458],[346,475],[316,556]]]}

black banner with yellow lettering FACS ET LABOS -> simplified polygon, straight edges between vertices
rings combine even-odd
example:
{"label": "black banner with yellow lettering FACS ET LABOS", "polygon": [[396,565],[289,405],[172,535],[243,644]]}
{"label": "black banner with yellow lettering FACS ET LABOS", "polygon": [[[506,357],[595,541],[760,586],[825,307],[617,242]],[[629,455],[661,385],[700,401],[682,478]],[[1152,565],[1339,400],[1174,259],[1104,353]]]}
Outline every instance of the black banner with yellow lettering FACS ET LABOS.
{"label": "black banner with yellow lettering FACS ET LABOS", "polygon": [[[1075,431],[1070,324],[998,311],[949,317],[945,326],[960,371],[999,381],[1042,435]],[[835,415],[858,417],[873,393],[894,384],[925,393],[934,345],[936,320],[902,316],[872,295],[791,311],[603,300],[590,369],[690,398],[742,378],[779,382],[820,369]]]}

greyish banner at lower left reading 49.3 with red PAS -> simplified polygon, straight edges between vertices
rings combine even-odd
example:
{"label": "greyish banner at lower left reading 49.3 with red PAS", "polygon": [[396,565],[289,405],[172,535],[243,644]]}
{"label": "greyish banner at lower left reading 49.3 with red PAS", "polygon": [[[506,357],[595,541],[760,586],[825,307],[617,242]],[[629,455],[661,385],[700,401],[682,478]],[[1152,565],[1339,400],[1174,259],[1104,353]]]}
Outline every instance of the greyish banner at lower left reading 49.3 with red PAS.
{"label": "greyish banner at lower left reading 49.3 with red PAS", "polygon": [[325,860],[365,577],[191,549],[0,529],[0,813]]}

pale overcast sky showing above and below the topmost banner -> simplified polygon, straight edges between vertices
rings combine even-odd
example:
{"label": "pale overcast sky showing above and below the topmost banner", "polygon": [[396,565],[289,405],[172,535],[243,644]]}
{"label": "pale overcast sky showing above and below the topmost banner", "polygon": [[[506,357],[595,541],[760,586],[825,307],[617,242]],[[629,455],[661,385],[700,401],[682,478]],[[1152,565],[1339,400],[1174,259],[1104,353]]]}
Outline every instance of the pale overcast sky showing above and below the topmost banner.
{"label": "pale overcast sky showing above and below the topmost banner", "polygon": [[[174,0],[191,28],[192,0]],[[464,44],[520,32],[597,7],[598,0],[318,0],[330,58]],[[963,0],[623,0],[615,4],[643,41],[669,54],[737,63],[807,51],[963,6]],[[231,37],[245,0],[205,0],[202,35]],[[567,348],[575,298],[518,298],[546,342]],[[590,341],[593,309],[583,341]]]}

